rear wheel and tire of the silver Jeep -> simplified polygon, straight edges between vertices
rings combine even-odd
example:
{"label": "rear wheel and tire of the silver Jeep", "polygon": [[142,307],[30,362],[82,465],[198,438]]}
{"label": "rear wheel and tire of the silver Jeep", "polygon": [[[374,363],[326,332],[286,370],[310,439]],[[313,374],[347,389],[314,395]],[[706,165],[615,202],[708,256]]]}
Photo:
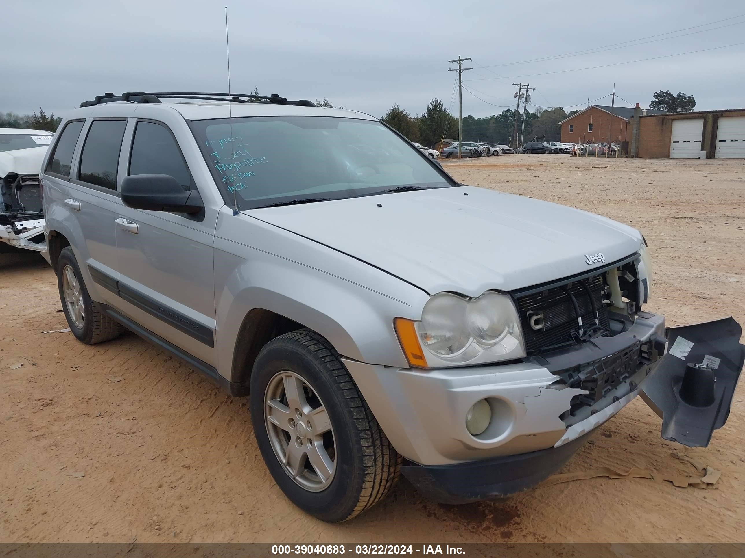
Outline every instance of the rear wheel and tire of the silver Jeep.
{"label": "rear wheel and tire of the silver Jeep", "polygon": [[96,344],[114,339],[124,331],[124,326],[101,312],[88,293],[75,252],[66,246],[57,259],[57,288],[72,335],[85,344]]}

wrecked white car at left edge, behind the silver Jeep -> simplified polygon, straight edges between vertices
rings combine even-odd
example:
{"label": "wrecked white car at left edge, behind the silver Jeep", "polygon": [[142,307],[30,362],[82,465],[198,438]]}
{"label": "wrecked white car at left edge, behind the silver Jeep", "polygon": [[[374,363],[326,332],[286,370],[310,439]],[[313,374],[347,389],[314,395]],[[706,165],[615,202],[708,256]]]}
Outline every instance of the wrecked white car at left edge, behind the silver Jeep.
{"label": "wrecked white car at left edge, behind the silver Jeep", "polygon": [[46,250],[39,169],[53,135],[0,128],[0,253]]}

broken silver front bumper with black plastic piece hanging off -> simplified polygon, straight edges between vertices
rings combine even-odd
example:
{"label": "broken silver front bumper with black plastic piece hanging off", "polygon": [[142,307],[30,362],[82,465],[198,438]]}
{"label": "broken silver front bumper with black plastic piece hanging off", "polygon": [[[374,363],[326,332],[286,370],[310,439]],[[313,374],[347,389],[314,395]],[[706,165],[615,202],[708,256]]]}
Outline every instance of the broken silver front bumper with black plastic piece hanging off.
{"label": "broken silver front bumper with black plastic piece hanging off", "polygon": [[[668,330],[673,344],[679,329]],[[711,437],[726,420],[745,358],[739,331],[727,318],[689,326],[684,336],[693,343],[690,359],[701,364],[708,355],[707,362],[718,364],[707,371],[714,402],[711,394],[703,400],[716,412],[701,406],[690,411],[690,403],[702,405],[688,396],[690,387],[681,400],[688,357],[663,356],[665,318],[649,312],[640,312],[617,336],[505,365],[421,370],[344,363],[388,439],[408,460],[404,474],[431,498],[460,503],[509,496],[547,478],[640,391],[665,416],[663,437],[700,441],[703,434],[679,433],[691,432],[692,424]],[[491,422],[473,436],[466,414],[480,400],[489,403]]]}

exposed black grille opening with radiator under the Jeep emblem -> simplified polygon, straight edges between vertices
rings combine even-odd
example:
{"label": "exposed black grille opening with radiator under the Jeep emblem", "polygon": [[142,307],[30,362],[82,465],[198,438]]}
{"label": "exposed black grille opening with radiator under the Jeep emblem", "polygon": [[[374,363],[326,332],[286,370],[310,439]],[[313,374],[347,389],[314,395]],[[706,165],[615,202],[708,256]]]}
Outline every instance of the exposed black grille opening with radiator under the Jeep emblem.
{"label": "exposed black grille opening with radiator under the Jeep emblem", "polygon": [[[517,298],[516,302],[525,338],[525,349],[529,356],[550,347],[558,348],[571,344],[574,340],[571,332],[577,330],[577,315],[571,298],[564,289],[571,292],[577,300],[583,327],[587,329],[595,324],[592,303],[581,283],[587,286],[595,301],[599,318],[598,325],[608,329],[608,310],[603,306],[603,278],[600,275],[535,292],[532,295],[524,295]],[[535,329],[531,326],[531,318],[533,318],[533,326],[542,324],[542,327]]]}

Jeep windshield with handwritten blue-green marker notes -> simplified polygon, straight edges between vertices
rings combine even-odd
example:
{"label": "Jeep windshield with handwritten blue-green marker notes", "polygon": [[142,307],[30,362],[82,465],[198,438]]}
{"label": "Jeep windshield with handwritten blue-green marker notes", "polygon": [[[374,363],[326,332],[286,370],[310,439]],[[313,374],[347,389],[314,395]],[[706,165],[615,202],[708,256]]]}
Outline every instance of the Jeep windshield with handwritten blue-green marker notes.
{"label": "Jeep windshield with handwritten blue-green marker notes", "polygon": [[326,116],[192,121],[226,205],[239,210],[454,183],[377,121]]}

